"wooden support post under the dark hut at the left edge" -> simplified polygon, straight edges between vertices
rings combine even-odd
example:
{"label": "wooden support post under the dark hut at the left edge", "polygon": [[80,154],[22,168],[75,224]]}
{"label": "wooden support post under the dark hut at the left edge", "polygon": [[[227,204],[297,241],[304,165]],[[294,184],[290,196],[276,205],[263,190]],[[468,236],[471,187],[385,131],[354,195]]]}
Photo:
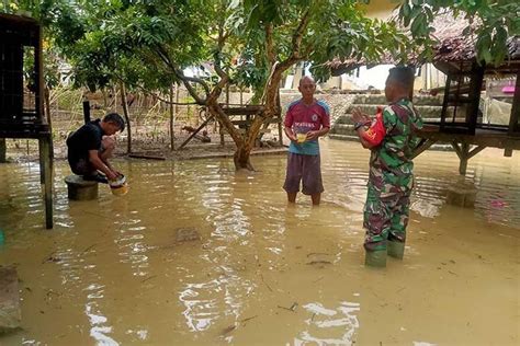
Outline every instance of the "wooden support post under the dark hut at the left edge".
{"label": "wooden support post under the dark hut at the left edge", "polygon": [[45,227],[53,228],[53,171],[50,169],[50,134],[38,138],[39,172],[45,198]]}

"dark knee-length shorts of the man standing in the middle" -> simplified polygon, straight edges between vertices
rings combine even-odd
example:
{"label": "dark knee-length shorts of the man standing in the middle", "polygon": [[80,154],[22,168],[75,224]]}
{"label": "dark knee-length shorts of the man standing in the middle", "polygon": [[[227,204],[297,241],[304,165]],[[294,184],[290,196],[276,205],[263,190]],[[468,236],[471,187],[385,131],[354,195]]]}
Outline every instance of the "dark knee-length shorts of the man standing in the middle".
{"label": "dark knee-length shorts of the man standing in the middle", "polygon": [[315,195],[324,192],[319,155],[289,153],[287,173],[283,189],[287,193],[299,192],[299,181],[302,181],[302,193],[304,195]]}

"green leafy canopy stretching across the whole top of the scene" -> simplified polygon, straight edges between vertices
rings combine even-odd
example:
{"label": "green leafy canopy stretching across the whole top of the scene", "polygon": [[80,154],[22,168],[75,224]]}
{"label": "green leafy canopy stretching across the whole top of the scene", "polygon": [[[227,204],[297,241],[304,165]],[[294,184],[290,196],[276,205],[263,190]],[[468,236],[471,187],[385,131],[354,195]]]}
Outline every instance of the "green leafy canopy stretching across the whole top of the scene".
{"label": "green leafy canopy stretching across the whole top of the scene", "polygon": [[[410,28],[410,44],[394,23],[365,18],[359,3],[366,2],[20,0],[0,2],[0,11],[25,10],[39,19],[47,42],[46,70],[56,71],[65,57],[78,86],[94,90],[124,81],[131,89],[167,91],[181,82],[185,68],[201,67],[205,73],[199,80],[208,86],[197,91],[206,95],[222,78],[218,69],[239,86],[261,90],[272,64],[290,58],[292,64],[309,61],[321,80],[329,77],[325,62],[334,58],[375,61],[393,55],[406,62],[408,53],[417,49],[420,58],[429,59],[434,44],[431,22],[446,9],[482,23],[463,35],[475,35],[477,57],[487,64],[500,64],[507,37],[520,31],[518,1],[407,0],[399,16]],[[46,80],[49,85],[57,82],[52,76]]]}

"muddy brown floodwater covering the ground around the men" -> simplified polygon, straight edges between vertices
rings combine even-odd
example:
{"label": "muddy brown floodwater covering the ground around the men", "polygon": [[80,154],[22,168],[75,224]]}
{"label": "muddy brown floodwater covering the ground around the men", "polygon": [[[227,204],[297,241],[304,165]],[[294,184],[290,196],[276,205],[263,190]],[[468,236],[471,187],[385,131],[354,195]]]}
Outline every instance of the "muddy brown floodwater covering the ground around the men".
{"label": "muddy brown floodwater covering the ground around the men", "polygon": [[[0,264],[15,264],[22,328],[1,345],[518,345],[520,159],[470,160],[474,209],[445,204],[454,152],[416,159],[403,262],[363,266],[369,152],[321,141],[326,192],[286,204],[285,157],[115,161],[124,197],[69,201],[55,166],[44,229],[36,163],[0,165]],[[201,240],[179,243],[176,230]]]}

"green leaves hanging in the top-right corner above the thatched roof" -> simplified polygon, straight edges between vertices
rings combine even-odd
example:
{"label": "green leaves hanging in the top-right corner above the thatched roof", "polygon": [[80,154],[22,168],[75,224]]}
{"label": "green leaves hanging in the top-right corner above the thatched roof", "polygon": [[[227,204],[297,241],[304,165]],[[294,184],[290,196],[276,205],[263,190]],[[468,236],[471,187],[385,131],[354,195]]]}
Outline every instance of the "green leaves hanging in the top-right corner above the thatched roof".
{"label": "green leaves hanging in the top-right corner above the thatched roof", "polygon": [[[436,41],[431,23],[442,12],[452,11],[464,16],[468,25],[462,35],[476,38],[477,61],[498,66],[507,56],[508,37],[520,35],[520,2],[515,0],[406,0],[399,8],[403,24],[410,28],[421,57],[431,57]],[[476,25],[476,30],[470,26]]]}

